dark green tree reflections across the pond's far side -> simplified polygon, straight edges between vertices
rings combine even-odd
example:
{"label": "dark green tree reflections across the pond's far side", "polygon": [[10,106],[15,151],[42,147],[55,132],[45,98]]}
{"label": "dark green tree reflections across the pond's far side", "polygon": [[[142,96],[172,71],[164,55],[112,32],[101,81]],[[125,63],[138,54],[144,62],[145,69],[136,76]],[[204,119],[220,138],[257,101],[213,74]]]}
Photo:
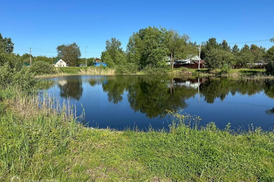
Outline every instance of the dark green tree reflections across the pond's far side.
{"label": "dark green tree reflections across the pond's far side", "polygon": [[[274,84],[269,80],[237,80],[233,78],[199,78],[186,75],[115,75],[92,76],[87,82],[91,86],[102,85],[107,93],[108,102],[118,104],[126,94],[130,108],[135,112],[146,113],[147,117],[166,114],[166,109],[184,109],[188,100],[200,91],[200,96],[207,103],[214,103],[219,98],[224,100],[228,94],[254,95],[264,93],[274,98]],[[82,77],[69,76],[57,80],[62,97],[79,100],[82,96]],[[267,110],[266,113],[271,113]]]}

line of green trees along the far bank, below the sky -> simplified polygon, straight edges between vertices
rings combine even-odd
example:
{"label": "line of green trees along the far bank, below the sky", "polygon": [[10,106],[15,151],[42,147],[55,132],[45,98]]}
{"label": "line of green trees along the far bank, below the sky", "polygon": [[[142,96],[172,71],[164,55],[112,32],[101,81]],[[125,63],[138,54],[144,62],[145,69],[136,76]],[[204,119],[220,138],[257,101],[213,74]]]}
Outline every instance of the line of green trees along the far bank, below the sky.
{"label": "line of green trees along the far bank, below the sky", "polygon": [[[13,52],[11,38],[1,38],[5,44],[6,52]],[[270,39],[271,42],[274,38]],[[72,44],[62,44],[56,47],[56,57],[32,56],[32,60],[52,63],[57,58],[63,59],[69,66],[85,63],[81,57],[80,47]],[[115,68],[116,73],[166,73],[173,69],[174,61],[198,55],[199,45],[191,42],[190,36],[180,34],[177,30],[163,27],[141,28],[129,37],[126,50],[122,49],[120,40],[112,37],[106,40],[105,50],[101,53],[101,61],[110,68]],[[21,62],[29,63],[28,53],[22,56],[15,54]],[[218,43],[216,38],[209,38],[202,42],[201,59],[205,67],[214,68],[247,68],[253,63],[260,63],[269,71],[274,70],[274,46],[266,49],[262,46],[245,44],[241,49],[235,44],[233,47],[226,40]],[[94,58],[87,58],[88,66],[93,65]]]}

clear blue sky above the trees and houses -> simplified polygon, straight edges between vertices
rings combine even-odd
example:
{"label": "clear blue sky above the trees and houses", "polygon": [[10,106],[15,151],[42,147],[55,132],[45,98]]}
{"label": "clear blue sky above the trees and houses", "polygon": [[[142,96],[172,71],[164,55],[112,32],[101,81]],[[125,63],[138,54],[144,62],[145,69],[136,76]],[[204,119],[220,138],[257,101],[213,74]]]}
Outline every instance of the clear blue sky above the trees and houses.
{"label": "clear blue sky above the trees and houses", "polygon": [[[88,46],[87,57],[100,57],[106,39],[118,38],[125,50],[132,32],[147,26],[172,27],[198,43],[210,37],[229,43],[274,37],[273,0],[0,3],[0,32],[12,38],[14,52],[20,55],[32,47],[35,56],[55,56],[57,45],[76,42],[81,51]],[[256,44],[266,48],[274,45],[269,41]]]}

